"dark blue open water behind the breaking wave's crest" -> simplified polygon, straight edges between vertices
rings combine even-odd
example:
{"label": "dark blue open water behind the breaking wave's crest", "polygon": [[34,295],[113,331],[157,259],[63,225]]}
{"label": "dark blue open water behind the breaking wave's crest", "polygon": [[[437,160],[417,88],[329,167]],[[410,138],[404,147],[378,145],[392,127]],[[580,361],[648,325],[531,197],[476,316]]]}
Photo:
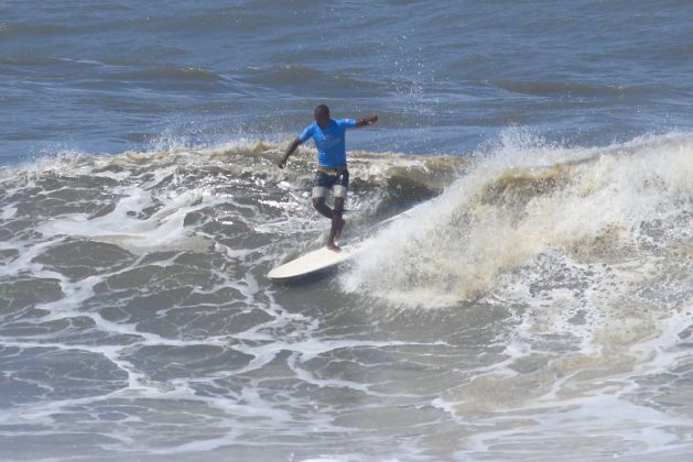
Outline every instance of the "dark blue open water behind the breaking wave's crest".
{"label": "dark blue open water behind the breaking wave's crest", "polygon": [[[690,128],[685,1],[6,1],[3,164],[295,133],[377,111],[364,148],[468,153]],[[355,140],[353,140],[355,141]]]}

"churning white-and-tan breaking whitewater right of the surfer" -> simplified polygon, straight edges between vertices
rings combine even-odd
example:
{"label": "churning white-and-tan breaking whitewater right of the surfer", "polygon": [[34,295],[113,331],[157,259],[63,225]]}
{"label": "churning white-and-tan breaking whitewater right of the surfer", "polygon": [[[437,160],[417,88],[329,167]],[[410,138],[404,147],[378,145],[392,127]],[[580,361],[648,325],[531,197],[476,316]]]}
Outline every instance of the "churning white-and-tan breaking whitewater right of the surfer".
{"label": "churning white-and-tan breaking whitewater right of the surfer", "polygon": [[690,245],[691,150],[683,134],[595,148],[497,146],[407,226],[379,237],[346,287],[446,306],[499,289],[503,275],[546,252],[575,265],[647,266],[662,252],[645,246],[656,237],[667,237],[658,249]]}

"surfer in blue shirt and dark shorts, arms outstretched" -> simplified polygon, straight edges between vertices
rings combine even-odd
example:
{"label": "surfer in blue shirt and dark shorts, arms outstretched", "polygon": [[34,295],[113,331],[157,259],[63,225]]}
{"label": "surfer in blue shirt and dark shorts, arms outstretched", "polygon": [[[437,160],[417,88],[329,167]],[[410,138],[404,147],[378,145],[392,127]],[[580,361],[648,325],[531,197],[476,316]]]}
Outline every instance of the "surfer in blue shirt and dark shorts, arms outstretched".
{"label": "surfer in blue shirt and dark shorts, arms outstretched", "polygon": [[[279,161],[279,168],[286,166],[289,156],[303,143],[313,139],[317,148],[317,172],[313,180],[313,207],[324,217],[332,220],[327,249],[339,252],[342,249],[335,244],[335,239],[344,228],[344,202],[349,187],[349,170],[346,164],[345,131],[370,125],[378,121],[378,116],[368,116],[360,119],[332,119],[329,108],[320,105],[313,111],[315,122],[307,125],[301,135],[291,142],[284,156]],[[331,209],[325,204],[325,198],[332,189],[335,198],[335,208]]]}

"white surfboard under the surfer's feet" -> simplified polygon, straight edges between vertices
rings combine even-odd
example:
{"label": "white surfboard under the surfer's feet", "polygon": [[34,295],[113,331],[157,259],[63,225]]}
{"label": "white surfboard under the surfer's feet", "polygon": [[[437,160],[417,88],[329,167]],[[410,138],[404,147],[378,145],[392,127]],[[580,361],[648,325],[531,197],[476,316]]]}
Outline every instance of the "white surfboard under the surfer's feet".
{"label": "white surfboard under the surfer's feet", "polygon": [[[373,228],[380,228],[386,223],[408,217],[411,215],[412,210],[413,209],[409,209],[400,215],[389,218]],[[367,240],[364,240],[350,245],[344,245],[342,246],[342,252],[331,251],[327,248],[308,252],[295,260],[284,263],[283,265],[277,266],[268,273],[268,277],[273,280],[288,280],[332,268],[340,263],[356,257],[366,248],[366,242]]]}

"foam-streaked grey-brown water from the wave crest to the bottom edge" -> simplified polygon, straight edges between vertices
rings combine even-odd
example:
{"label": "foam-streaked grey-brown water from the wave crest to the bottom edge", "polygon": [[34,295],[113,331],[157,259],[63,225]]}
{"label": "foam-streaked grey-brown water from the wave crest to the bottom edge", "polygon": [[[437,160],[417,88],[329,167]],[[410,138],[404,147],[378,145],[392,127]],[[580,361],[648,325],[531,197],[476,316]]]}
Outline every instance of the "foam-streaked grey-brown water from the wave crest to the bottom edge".
{"label": "foam-streaked grey-brown water from the wave crest to the bottom edge", "polygon": [[693,135],[355,152],[347,235],[416,206],[294,286],[327,223],[281,147],[0,170],[0,458],[690,452]]}

